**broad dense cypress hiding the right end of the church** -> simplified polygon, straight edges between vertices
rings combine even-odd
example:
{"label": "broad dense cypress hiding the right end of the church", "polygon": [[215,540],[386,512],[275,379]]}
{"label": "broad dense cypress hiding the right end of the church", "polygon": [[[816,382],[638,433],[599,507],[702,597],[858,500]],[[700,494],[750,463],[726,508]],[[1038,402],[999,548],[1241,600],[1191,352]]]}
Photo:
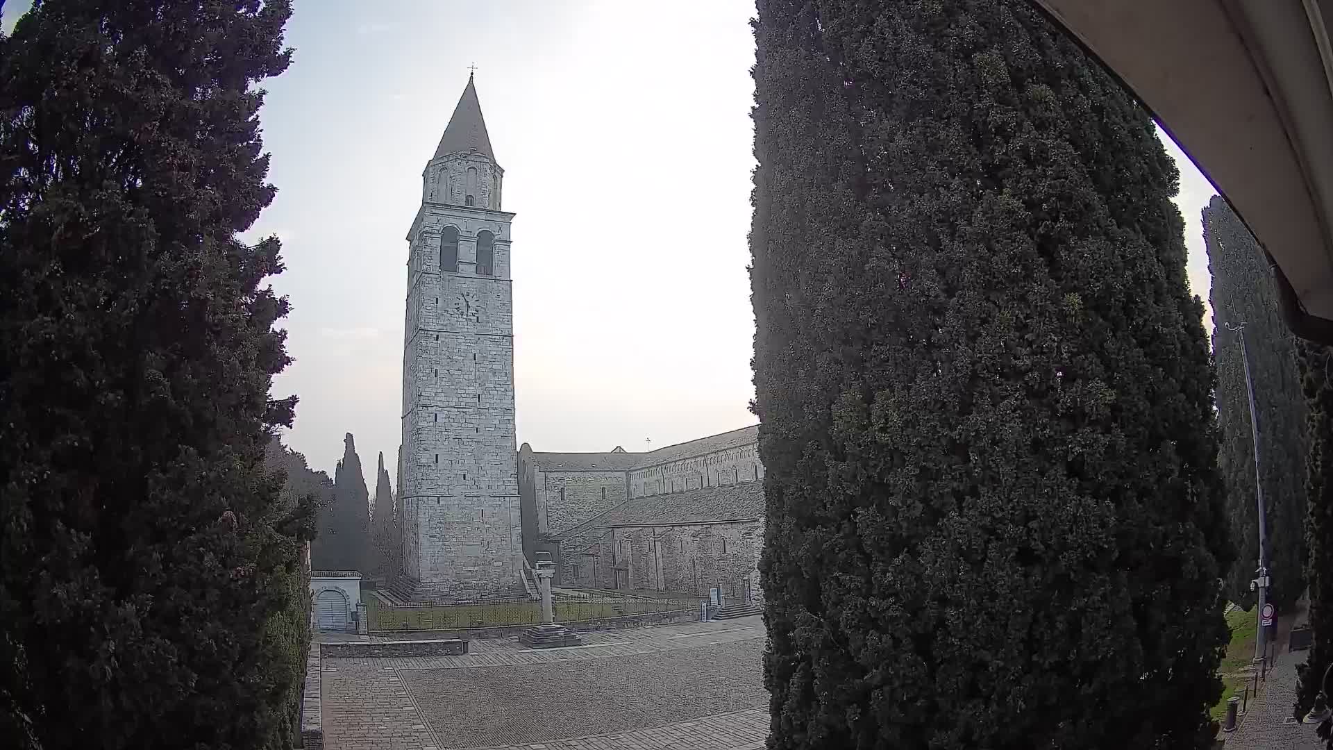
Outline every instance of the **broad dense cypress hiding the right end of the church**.
{"label": "broad dense cypress hiding the right end of the church", "polygon": [[1229,543],[1152,120],[1017,0],[756,41],[769,746],[1205,747]]}

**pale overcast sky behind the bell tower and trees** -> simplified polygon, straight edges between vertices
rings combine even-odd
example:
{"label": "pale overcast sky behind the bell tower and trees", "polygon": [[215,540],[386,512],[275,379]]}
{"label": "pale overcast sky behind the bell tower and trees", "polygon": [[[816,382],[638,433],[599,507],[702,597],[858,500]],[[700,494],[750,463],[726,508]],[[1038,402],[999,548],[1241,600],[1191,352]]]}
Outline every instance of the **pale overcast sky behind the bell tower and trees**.
{"label": "pale overcast sky behind the bell tower and trees", "polygon": [[[27,3],[5,4],[5,28]],[[421,169],[476,64],[513,222],[519,442],[661,447],[754,423],[749,360],[752,0],[296,0],[265,84],[301,403],[288,443],[332,475],[356,435],[392,467],[407,234]],[[1208,296],[1181,165],[1190,282]],[[392,474],[392,468],[391,468]]]}

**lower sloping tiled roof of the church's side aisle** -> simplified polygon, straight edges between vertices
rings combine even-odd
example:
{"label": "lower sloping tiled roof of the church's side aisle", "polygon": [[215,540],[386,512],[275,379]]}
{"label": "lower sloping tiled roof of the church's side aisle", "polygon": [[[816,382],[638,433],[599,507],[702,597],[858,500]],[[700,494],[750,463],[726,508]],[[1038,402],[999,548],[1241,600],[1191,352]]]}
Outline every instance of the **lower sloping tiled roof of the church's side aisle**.
{"label": "lower sloping tiled roof of the church's side aisle", "polygon": [[563,531],[572,538],[589,528],[611,526],[661,526],[666,523],[717,523],[750,520],[764,515],[764,483],[741,482],[685,492],[664,492],[625,500],[592,519]]}

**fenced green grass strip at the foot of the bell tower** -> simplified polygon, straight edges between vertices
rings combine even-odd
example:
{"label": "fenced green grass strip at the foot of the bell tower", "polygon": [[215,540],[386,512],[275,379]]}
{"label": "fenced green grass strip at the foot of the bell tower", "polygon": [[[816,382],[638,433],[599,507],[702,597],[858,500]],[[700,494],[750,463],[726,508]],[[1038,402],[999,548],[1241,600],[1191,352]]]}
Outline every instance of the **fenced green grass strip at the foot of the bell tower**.
{"label": "fenced green grass strip at the foot of the bell tower", "polygon": [[[560,622],[579,622],[629,614],[693,610],[698,599],[589,598],[556,599]],[[365,605],[371,630],[461,630],[505,625],[536,625],[539,602],[489,602],[481,605],[440,605],[427,607],[385,607],[371,597]],[[404,626],[407,623],[407,626]]]}

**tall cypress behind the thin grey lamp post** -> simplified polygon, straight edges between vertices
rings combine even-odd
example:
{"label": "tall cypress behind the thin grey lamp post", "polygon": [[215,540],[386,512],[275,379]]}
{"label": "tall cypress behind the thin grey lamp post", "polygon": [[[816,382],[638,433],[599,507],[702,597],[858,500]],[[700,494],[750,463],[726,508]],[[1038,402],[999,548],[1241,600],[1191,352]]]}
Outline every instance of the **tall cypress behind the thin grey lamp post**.
{"label": "tall cypress behind the thin grey lamp post", "polygon": [[1260,471],[1268,522],[1270,599],[1278,607],[1305,590],[1305,396],[1296,364],[1296,339],[1277,311],[1277,290],[1264,251],[1221,196],[1204,208],[1204,240],[1213,275],[1213,360],[1217,368],[1218,466],[1237,563],[1226,579],[1233,602],[1253,601],[1258,559],[1254,498],[1254,439],[1240,335],[1245,324],[1258,414]]}

